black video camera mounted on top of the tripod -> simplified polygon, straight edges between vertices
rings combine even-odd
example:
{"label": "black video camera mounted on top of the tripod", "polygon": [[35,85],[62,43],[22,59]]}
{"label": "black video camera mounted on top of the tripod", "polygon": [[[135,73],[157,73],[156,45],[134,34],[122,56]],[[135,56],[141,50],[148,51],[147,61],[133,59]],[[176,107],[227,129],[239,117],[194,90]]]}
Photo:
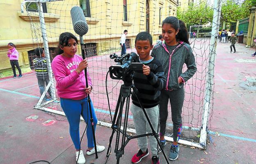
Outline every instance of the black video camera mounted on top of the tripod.
{"label": "black video camera mounted on top of the tripod", "polygon": [[110,59],[114,59],[117,65],[109,67],[110,78],[123,80],[124,82],[132,81],[134,71],[142,71],[142,63],[136,63],[138,55],[134,52],[126,53],[118,56],[115,53],[110,55]]}

